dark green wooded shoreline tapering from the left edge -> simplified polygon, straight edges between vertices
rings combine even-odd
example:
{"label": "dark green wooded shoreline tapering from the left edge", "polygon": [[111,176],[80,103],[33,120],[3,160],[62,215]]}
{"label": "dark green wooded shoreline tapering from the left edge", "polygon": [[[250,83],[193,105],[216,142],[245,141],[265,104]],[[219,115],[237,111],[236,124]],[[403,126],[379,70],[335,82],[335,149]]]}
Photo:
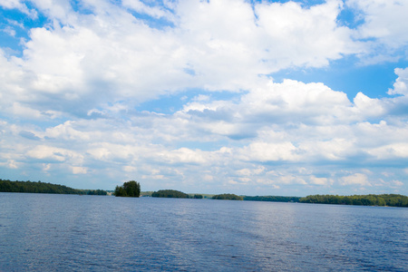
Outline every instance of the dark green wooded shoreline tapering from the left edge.
{"label": "dark green wooded shoreline tapering from the left edge", "polygon": [[73,189],[64,185],[41,181],[0,180],[0,192],[24,192],[44,194],[107,195],[102,189]]}

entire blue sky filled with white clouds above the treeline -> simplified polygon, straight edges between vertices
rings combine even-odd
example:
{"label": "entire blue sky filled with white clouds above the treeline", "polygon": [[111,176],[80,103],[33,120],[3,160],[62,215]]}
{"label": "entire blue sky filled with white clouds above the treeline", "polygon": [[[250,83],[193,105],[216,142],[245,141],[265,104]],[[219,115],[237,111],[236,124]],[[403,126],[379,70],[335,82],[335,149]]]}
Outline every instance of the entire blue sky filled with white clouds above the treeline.
{"label": "entire blue sky filled with white clouds above the treeline", "polygon": [[0,179],[408,195],[407,14],[407,0],[0,0]]}

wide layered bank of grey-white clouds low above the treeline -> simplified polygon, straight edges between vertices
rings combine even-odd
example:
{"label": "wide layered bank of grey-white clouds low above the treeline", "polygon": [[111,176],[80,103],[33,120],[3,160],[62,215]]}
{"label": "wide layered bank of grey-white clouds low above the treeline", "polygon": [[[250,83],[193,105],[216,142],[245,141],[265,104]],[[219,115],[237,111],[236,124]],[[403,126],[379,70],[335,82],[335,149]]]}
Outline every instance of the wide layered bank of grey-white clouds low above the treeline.
{"label": "wide layered bank of grey-white clouds low above the treeline", "polygon": [[[64,121],[45,130],[3,122],[3,147],[19,142],[6,131],[42,141],[24,142],[19,150],[3,153],[2,158],[7,159],[2,165],[18,169],[37,163],[43,170],[44,163],[61,164],[73,174],[94,175],[97,170],[106,176],[137,175],[151,184],[151,180],[184,180],[190,186],[201,182],[220,184],[235,177],[232,180],[240,186],[264,184],[270,189],[282,189],[307,184],[331,186],[335,177],[344,186],[371,184],[366,174],[343,177],[341,167],[332,170],[331,178],[316,178],[320,170],[308,162],[327,167],[336,161],[342,165],[407,158],[403,136],[408,131],[406,125],[359,121],[364,120],[364,114],[355,110],[358,105],[348,101],[343,92],[323,84],[294,81],[258,84],[253,92],[242,94],[238,101],[194,99],[180,112],[168,115],[129,113],[127,120],[112,117]],[[260,100],[259,93],[266,94],[264,100]],[[314,93],[320,93],[322,99],[315,99]],[[219,111],[223,113],[211,113]],[[219,131],[223,126],[216,129],[220,121],[227,125],[224,131]],[[251,137],[231,140],[231,133],[248,130],[253,131]],[[184,147],[186,141],[193,148]],[[226,143],[232,146],[224,146]],[[203,144],[210,144],[209,151],[203,151]],[[13,157],[12,153],[25,155]],[[282,163],[306,165],[294,170],[282,168]],[[274,170],[274,164],[280,170]],[[48,166],[46,171],[51,169],[54,167]],[[198,173],[202,180],[195,178]]]}

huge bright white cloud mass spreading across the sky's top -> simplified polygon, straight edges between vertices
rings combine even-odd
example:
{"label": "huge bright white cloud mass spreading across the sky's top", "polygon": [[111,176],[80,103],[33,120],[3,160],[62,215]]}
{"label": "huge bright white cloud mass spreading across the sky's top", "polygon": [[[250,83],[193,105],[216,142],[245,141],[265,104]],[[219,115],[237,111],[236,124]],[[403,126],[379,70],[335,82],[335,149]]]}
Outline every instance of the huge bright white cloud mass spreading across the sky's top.
{"label": "huge bright white cloud mass spreading across the sky's top", "polygon": [[[84,2],[92,14],[65,1],[35,5],[52,23],[31,29],[24,57],[4,64],[20,73],[18,83],[5,81],[5,91],[22,88],[16,102],[36,110],[84,114],[104,101],[138,103],[196,87],[237,92],[259,75],[321,67],[356,52],[350,31],[336,24],[339,1],[308,9],[294,2],[180,1],[167,9]],[[153,17],[169,17],[171,9],[174,27],[151,28],[123,7]]]}

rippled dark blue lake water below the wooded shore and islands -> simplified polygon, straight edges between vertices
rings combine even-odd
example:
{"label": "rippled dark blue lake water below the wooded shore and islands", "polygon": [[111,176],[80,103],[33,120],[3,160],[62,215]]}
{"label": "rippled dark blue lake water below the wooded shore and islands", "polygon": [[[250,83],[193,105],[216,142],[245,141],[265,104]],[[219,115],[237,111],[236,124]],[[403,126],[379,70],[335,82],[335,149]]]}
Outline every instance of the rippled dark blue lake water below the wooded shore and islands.
{"label": "rippled dark blue lake water below the wooded shore and islands", "polygon": [[408,209],[0,193],[0,271],[407,271]]}

